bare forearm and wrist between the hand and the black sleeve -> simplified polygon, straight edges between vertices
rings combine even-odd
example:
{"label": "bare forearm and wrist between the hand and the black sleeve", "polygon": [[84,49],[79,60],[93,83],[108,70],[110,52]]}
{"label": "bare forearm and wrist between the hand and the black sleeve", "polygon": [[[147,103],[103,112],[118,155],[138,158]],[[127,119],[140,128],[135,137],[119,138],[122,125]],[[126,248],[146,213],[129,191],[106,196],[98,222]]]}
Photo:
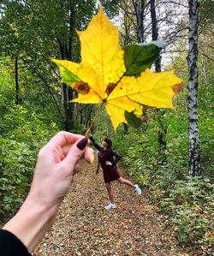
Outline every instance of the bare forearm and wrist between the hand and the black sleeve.
{"label": "bare forearm and wrist between the hand and the black sleeve", "polygon": [[16,235],[27,247],[29,253],[32,253],[54,222],[58,206],[48,208],[45,205],[35,204],[29,195],[15,217],[9,220],[3,229]]}

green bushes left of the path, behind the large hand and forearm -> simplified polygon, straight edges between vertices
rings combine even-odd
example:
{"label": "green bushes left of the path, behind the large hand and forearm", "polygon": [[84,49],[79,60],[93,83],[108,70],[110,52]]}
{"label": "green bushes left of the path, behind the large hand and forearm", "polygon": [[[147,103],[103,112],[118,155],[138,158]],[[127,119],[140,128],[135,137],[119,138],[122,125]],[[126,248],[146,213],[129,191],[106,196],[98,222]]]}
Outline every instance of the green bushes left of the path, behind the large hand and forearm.
{"label": "green bushes left of the path, behind the large hand and forearm", "polygon": [[[4,59],[0,68],[1,223],[20,207],[30,188],[38,150],[58,131],[54,108],[45,99],[39,104],[42,97],[37,101],[25,100],[24,104],[14,103],[14,80],[9,67],[9,60]],[[33,79],[30,74],[27,77]],[[48,106],[43,109],[45,104]]]}

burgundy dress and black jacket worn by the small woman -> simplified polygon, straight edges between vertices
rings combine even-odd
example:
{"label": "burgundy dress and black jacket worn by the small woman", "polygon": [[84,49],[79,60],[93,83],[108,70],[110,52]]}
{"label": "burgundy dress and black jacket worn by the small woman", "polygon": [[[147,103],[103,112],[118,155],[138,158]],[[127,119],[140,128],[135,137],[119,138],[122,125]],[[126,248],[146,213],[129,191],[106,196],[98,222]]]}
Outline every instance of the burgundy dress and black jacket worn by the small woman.
{"label": "burgundy dress and black jacket worn by the small woman", "polygon": [[[114,149],[104,150],[104,147],[99,146],[92,136],[90,140],[92,141],[92,145],[98,149],[98,167],[101,164],[104,172],[104,182],[110,183],[119,179],[121,175],[117,170],[116,163],[121,159],[121,156]],[[109,161],[112,165],[106,165],[106,161]]]}

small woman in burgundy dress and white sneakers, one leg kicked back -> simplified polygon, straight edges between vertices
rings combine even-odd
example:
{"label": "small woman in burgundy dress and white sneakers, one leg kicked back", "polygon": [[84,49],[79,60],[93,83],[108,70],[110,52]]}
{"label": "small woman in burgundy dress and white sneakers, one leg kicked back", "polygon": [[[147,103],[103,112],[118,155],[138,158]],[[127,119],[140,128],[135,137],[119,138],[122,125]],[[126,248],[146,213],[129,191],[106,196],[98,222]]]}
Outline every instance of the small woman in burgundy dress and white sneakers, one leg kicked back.
{"label": "small woman in burgundy dress and white sneakers, one leg kicked back", "polygon": [[[104,171],[104,183],[109,194],[110,204],[105,206],[106,210],[115,209],[115,198],[111,189],[110,182],[117,181],[122,184],[128,185],[136,191],[136,193],[141,194],[141,189],[137,184],[133,184],[126,179],[123,179],[119,174],[116,163],[121,159],[121,156],[112,148],[112,142],[108,138],[104,138],[101,146],[94,140],[92,134],[90,133],[89,139],[92,141],[92,145],[98,149],[98,167],[101,164],[102,169]],[[98,169],[97,169],[98,174]]]}

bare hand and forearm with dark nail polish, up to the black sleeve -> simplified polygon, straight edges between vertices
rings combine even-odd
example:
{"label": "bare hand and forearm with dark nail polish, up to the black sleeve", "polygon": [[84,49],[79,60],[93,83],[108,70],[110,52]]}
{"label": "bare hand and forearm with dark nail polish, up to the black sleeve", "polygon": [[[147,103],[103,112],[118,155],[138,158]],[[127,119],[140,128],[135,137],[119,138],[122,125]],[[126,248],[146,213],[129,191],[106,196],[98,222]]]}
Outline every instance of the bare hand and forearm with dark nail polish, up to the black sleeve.
{"label": "bare hand and forearm with dark nail polish, up to the black sleeve", "polygon": [[87,138],[68,132],[59,132],[39,151],[30,193],[20,210],[3,226],[16,235],[30,253],[53,224],[81,156],[88,163],[94,159]]}

